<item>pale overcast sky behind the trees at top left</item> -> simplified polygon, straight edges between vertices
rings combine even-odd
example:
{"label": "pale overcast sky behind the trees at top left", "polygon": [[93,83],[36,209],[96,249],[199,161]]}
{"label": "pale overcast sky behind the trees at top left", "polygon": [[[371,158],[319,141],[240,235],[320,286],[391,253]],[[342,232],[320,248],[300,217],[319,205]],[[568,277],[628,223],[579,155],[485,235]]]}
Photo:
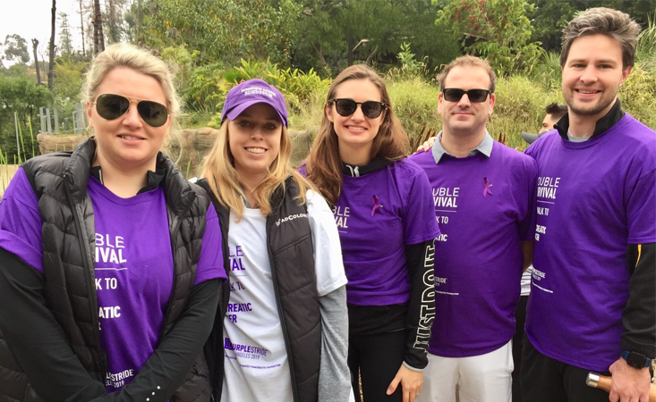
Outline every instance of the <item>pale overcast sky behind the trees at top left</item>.
{"label": "pale overcast sky behind the trees at top left", "polygon": [[[71,26],[72,46],[82,48],[80,33],[80,14],[78,0],[56,0],[56,12],[67,13],[68,23]],[[4,43],[7,35],[18,34],[28,42],[28,51],[32,63],[32,38],[38,39],[39,51],[46,54],[50,41],[50,8],[52,0],[0,0],[0,42]],[[59,20],[56,21],[55,46],[58,37]],[[41,55],[39,54],[39,58]],[[4,65],[9,65],[3,61]]]}

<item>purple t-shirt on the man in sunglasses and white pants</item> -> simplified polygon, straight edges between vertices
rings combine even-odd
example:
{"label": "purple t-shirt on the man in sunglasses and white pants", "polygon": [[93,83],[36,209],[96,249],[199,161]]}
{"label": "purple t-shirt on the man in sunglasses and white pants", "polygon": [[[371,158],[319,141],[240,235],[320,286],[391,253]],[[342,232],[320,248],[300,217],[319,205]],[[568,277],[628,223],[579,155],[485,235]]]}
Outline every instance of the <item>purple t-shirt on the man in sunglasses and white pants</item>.
{"label": "purple t-shirt on the man in sunglasses and white pants", "polygon": [[[515,334],[524,253],[532,240],[537,166],[494,142],[490,156],[415,154],[428,174],[442,234],[435,242],[435,326],[429,351],[480,356]],[[486,182],[487,181],[487,182]]]}

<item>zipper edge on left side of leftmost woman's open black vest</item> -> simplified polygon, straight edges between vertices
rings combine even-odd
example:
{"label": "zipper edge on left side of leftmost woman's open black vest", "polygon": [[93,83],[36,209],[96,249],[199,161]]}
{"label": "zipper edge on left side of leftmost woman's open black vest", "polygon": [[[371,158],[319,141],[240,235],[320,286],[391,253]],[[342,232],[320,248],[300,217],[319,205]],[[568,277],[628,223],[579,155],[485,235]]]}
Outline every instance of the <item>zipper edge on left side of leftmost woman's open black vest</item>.
{"label": "zipper edge on left side of leftmost woman's open black vest", "polygon": [[93,323],[93,332],[94,336],[96,338],[96,345],[98,346],[98,354],[100,355],[100,375],[102,376],[101,381],[103,384],[105,383],[106,380],[106,356],[103,353],[103,351],[100,348],[100,319],[98,317],[98,294],[96,293],[96,281],[94,278],[96,277],[95,272],[93,272],[95,264],[93,263],[93,259],[89,258],[90,256],[90,250],[87,245],[87,242],[85,239],[87,239],[87,230],[83,224],[81,224],[83,217],[80,214],[80,211],[78,210],[78,205],[76,205],[73,202],[72,199],[72,194],[71,194],[71,188],[69,185],[69,175],[67,173],[64,173],[64,188],[66,191],[66,197],[68,198],[69,205],[72,207],[72,214],[73,214],[73,221],[75,222],[75,226],[77,227],[78,232],[80,233],[80,236],[78,236],[78,239],[80,240],[80,247],[82,251],[84,252],[84,255],[86,258],[84,258],[84,261],[87,263],[87,269],[85,270],[85,276],[87,279],[87,284],[89,287],[89,301],[90,301],[90,306],[91,306],[91,320]]}

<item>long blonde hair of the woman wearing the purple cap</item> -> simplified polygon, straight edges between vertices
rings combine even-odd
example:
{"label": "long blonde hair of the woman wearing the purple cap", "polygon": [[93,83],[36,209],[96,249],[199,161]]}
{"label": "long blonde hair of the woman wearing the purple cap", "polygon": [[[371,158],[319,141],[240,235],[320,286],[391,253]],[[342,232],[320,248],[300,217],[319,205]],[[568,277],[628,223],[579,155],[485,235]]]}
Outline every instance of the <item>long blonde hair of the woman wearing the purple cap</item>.
{"label": "long blonde hair of the woman wearing the purple cap", "polygon": [[[234,169],[234,156],[230,151],[228,143],[229,119],[226,118],[218,130],[217,139],[214,146],[205,156],[202,163],[201,177],[208,180],[209,188],[217,197],[217,200],[225,205],[226,208],[234,210],[237,220],[243,216],[243,201],[246,195],[240,185],[239,173]],[[282,187],[285,190],[285,180],[292,176],[299,188],[300,204],[305,203],[305,192],[308,189],[314,189],[308,180],[291,167],[292,157],[292,139],[289,137],[287,128],[282,126],[282,135],[280,136],[280,152],[276,159],[268,167],[267,177],[256,187],[252,188],[252,196],[255,198],[255,204],[260,208],[262,215],[271,214],[270,199],[277,188]],[[255,205],[253,205],[255,206]]]}

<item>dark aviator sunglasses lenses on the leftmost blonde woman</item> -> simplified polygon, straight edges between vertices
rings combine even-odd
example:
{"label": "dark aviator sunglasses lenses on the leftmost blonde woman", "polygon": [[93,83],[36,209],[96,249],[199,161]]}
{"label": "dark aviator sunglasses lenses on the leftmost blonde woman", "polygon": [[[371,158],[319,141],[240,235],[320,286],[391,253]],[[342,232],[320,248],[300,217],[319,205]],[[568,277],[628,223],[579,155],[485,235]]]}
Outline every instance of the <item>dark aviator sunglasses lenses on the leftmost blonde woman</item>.
{"label": "dark aviator sunglasses lenses on the leftmost blonde woman", "polygon": [[100,117],[106,120],[115,120],[123,116],[128,109],[130,103],[137,103],[137,112],[141,119],[150,127],[162,127],[168,119],[168,109],[165,105],[158,102],[140,100],[131,101],[125,96],[115,94],[103,94],[96,98],[96,110]]}

